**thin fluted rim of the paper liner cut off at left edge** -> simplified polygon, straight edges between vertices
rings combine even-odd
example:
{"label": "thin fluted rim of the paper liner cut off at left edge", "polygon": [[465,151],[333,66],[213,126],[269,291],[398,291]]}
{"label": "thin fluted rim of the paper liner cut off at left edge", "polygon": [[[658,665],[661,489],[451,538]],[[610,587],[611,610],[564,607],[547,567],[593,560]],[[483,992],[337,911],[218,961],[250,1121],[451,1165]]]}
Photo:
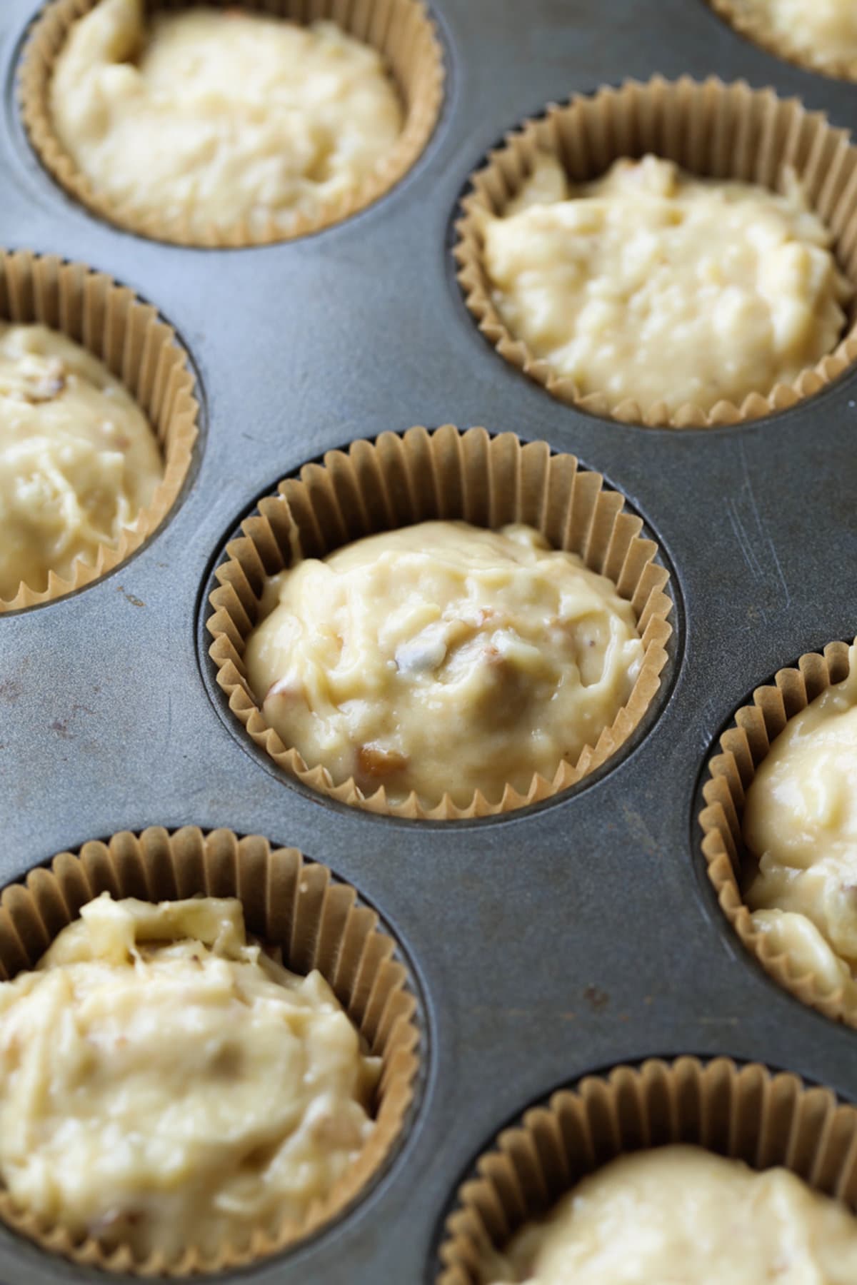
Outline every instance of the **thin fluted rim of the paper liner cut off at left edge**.
{"label": "thin fluted rim of the paper liner cut off at left edge", "polygon": [[[13,598],[3,598],[0,595],[0,616],[5,612],[17,612],[30,607],[40,607],[45,603],[67,598],[78,589],[84,589],[94,581],[102,580],[112,571],[116,571],[121,563],[126,562],[132,554],[135,554],[145,544],[145,541],[153,536],[155,531],[158,531],[181,495],[185,482],[190,474],[194,447],[199,437],[200,412],[199,401],[195,397],[197,380],[191,369],[188,350],[180,341],[175,328],[159,315],[153,305],[141,299],[135,290],[121,285],[107,272],[100,272],[96,269],[90,267],[87,263],[67,261],[60,258],[58,254],[37,254],[27,249],[0,249],[0,265],[5,267],[8,263],[15,265],[15,267],[22,267],[28,274],[31,285],[33,283],[33,274],[40,266],[44,266],[45,269],[55,267],[58,274],[73,274],[76,271],[82,272],[85,283],[96,283],[98,287],[105,292],[105,305],[109,299],[121,299],[122,302],[127,302],[128,315],[132,310],[141,310],[143,315],[148,315],[149,333],[154,333],[155,329],[161,332],[157,341],[158,350],[164,351],[170,347],[175,348],[180,359],[180,369],[177,371],[175,387],[176,407],[170,416],[172,441],[168,447],[166,430],[162,439],[157,427],[152,421],[152,416],[140,406],[135,389],[122,380],[123,387],[131,396],[135,406],[143,411],[146,423],[158,442],[158,450],[163,461],[163,477],[154,491],[152,502],[137,513],[132,524],[122,528],[114,547],[102,544],[96,550],[93,550],[91,555],[78,555],[72,563],[71,576],[63,577],[51,569],[48,573],[48,586],[44,590],[32,589],[24,581],[21,581]],[[33,296],[37,293],[39,292],[33,289]],[[82,299],[82,307],[85,307],[85,299]],[[48,324],[40,320],[39,307],[28,308],[27,311],[31,314],[28,320],[13,321],[5,315],[0,317],[0,320],[9,321],[13,325]],[[109,307],[105,306],[104,311],[107,315]],[[113,316],[114,315],[116,314],[113,314]],[[127,317],[123,324],[127,324]],[[72,339],[85,351],[91,352],[93,356],[98,357],[99,361],[104,361],[107,365],[105,359],[95,352],[91,344],[84,343],[80,338],[69,334],[66,329],[55,326],[50,326],[50,329],[58,329],[60,334],[64,334],[67,338]]]}

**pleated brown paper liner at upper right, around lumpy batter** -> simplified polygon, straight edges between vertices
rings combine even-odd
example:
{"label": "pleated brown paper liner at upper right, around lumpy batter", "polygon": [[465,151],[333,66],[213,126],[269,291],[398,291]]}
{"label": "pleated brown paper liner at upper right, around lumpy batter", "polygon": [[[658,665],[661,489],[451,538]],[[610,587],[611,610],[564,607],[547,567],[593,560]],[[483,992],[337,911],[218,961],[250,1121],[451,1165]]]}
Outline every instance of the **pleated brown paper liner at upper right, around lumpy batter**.
{"label": "pleated brown paper liner at upper right, around lumpy batter", "polygon": [[649,427],[709,428],[785,410],[830,383],[857,357],[854,316],[833,353],[790,384],[749,393],[740,406],[720,401],[707,411],[687,403],[671,412],[657,403],[644,411],[630,398],[614,403],[601,392],[583,396],[572,379],[554,373],[506,328],[482,258],[483,218],[502,213],[520,191],[537,152],[558,155],[573,182],[599,177],[619,157],[648,152],[691,173],[771,189],[776,189],[784,166],[791,166],[834,234],[839,267],[857,289],[857,148],[849,139],[847,130],[833,128],[821,112],[807,112],[797,99],[779,99],[773,90],[752,90],[743,81],[725,85],[717,78],[699,84],[689,77],[675,82],[654,77],[645,85],[627,81],[619,89],[550,105],[543,117],[524,122],[488,154],[461,202],[454,253],[466,306],[506,361],[554,397],[595,415]]}

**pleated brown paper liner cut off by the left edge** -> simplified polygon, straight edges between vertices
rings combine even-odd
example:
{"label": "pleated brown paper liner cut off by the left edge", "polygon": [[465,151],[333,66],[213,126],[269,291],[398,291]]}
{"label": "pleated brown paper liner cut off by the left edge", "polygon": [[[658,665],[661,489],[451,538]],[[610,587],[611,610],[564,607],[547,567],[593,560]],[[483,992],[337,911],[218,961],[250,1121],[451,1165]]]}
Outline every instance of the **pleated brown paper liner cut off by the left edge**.
{"label": "pleated brown paper liner cut off by the left edge", "polygon": [[100,357],[148,416],[164,463],[152,504],[122,529],[116,546],[100,545],[94,562],[77,558],[67,580],[50,572],[44,590],[22,582],[14,598],[0,598],[3,613],[71,594],[140,547],[161,526],[185,482],[199,406],[188,353],[176,342],[175,330],[132,290],[103,272],[64,263],[53,254],[0,252],[0,319],[41,323]]}

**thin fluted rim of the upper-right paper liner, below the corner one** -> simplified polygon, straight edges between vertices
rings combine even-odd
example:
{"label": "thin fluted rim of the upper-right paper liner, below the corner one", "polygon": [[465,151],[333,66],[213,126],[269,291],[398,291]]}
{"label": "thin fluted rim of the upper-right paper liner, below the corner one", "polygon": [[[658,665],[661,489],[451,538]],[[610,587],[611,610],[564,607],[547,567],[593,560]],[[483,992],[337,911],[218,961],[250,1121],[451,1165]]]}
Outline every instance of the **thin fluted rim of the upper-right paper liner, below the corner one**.
{"label": "thin fluted rim of the upper-right paper liner, below the corner one", "polygon": [[[815,126],[820,131],[829,131],[831,136],[851,140],[848,130],[830,125],[826,113],[808,111],[798,99],[781,98],[772,89],[752,89],[744,80],[726,82],[718,76],[709,76],[704,81],[698,81],[690,76],[681,76],[672,81],[662,76],[653,76],[649,81],[628,78],[615,87],[601,86],[592,95],[576,93],[561,104],[550,103],[543,116],[527,117],[514,130],[509,131],[502,144],[488,153],[487,162],[470,173],[466,185],[468,191],[460,199],[460,213],[455,220],[452,256],[457,265],[456,280],[461,289],[465,307],[477,321],[479,332],[496,352],[565,405],[576,406],[601,419],[615,420],[621,424],[633,424],[640,428],[708,429],[745,424],[789,410],[791,406],[827,387],[857,361],[857,321],[852,320],[847,321],[847,333],[839,339],[836,347],[820,357],[813,366],[807,366],[791,382],[776,383],[767,393],[758,391],[749,392],[740,406],[729,398],[722,398],[711,410],[704,410],[702,406],[686,402],[675,411],[669,411],[664,403],[655,403],[644,411],[640,403],[631,397],[614,402],[604,392],[579,393],[572,378],[555,373],[549,361],[537,357],[526,341],[513,334],[502,320],[491,298],[491,284],[482,266],[479,216],[487,208],[483,198],[486,177],[495,171],[504,157],[523,150],[542,122],[550,123],[559,117],[576,113],[586,103],[619,103],[633,93],[654,94],[664,89],[678,90],[687,86],[696,90],[711,89],[722,94],[743,89],[755,102],[762,102],[764,98],[768,100],[773,98],[777,103],[791,103],[797,111],[803,113],[803,118],[815,122]],[[542,150],[550,150],[541,137],[538,146]],[[619,159],[619,157],[621,152],[617,150],[613,159]],[[839,260],[836,261],[840,270],[843,270]],[[848,279],[857,290],[857,280],[851,275]]]}

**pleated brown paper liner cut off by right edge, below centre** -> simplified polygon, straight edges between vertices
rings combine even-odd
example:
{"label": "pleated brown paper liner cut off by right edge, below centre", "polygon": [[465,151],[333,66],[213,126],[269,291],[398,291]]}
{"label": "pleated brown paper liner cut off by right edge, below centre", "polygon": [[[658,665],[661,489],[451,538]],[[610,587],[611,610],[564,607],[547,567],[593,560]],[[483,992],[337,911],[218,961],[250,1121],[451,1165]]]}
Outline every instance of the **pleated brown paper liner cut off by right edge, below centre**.
{"label": "pleated brown paper liner cut off by right edge, below centre", "polygon": [[788,953],[777,953],[771,938],[753,926],[752,914],[741,896],[748,852],[741,837],[744,799],[771,741],[789,718],[820,696],[829,686],[848,676],[845,642],[830,642],[824,653],[808,651],[794,669],[780,669],[772,686],[757,687],[753,703],[735,714],[720,739],[721,752],[708,765],[703,785],[705,806],[699,815],[703,853],[708,876],[721,908],[741,942],[771,977],[804,1004],[857,1027],[857,1006],[847,1002],[842,987],[831,989],[820,977],[802,971]]}

